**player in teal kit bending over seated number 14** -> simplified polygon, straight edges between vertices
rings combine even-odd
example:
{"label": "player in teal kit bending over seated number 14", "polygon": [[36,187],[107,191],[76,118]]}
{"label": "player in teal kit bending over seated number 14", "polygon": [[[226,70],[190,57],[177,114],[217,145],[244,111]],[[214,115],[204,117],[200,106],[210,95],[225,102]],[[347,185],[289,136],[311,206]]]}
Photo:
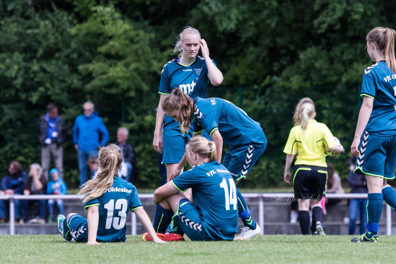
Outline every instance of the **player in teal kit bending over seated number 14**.
{"label": "player in teal kit bending over seated number 14", "polygon": [[[175,121],[179,121],[180,130],[185,133],[194,120],[194,136],[205,130],[216,143],[217,162],[221,161],[223,142],[230,146],[225,153],[223,163],[236,183],[244,179],[265,151],[267,139],[260,124],[247,116],[246,112],[234,104],[220,98],[194,98],[185,95],[179,88],[162,101],[162,109]],[[177,177],[186,164],[183,156],[171,179]],[[236,240],[248,240],[260,234],[260,227],[253,221],[249,208],[240,192],[238,213],[244,223],[244,229]]]}

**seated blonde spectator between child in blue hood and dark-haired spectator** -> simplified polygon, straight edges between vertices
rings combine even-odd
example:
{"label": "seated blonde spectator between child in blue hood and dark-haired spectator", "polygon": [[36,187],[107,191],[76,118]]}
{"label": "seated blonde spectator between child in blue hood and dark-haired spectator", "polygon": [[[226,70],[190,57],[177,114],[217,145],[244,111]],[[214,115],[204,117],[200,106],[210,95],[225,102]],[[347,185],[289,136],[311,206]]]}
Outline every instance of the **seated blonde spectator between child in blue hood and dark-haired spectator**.
{"label": "seated blonde spectator between child in blue hood and dark-haired spectator", "polygon": [[[46,194],[47,190],[47,180],[46,177],[42,174],[41,166],[38,163],[33,163],[30,165],[29,177],[23,186],[23,194]],[[46,200],[21,200],[21,220],[20,224],[23,224],[25,220],[27,220],[27,209],[31,208],[34,203],[38,203],[38,215],[34,215],[32,219],[30,219],[29,223],[39,223],[45,224],[46,220]]]}

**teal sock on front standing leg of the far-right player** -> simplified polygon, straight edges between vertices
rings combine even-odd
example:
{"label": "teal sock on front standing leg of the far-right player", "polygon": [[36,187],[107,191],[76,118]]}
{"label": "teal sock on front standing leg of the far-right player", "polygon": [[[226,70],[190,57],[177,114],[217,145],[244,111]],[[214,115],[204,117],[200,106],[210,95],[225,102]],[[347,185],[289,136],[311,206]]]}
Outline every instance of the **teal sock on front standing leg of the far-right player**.
{"label": "teal sock on front standing leg of the far-right player", "polygon": [[378,234],[379,218],[382,211],[382,193],[367,194],[367,238]]}

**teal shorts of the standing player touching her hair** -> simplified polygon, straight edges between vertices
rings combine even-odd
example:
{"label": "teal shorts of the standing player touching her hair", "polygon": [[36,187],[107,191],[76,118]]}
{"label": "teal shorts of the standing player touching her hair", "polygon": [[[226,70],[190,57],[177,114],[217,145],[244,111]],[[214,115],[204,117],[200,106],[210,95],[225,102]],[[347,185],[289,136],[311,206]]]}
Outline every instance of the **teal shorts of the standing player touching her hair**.
{"label": "teal shorts of the standing player touching her hair", "polygon": [[[211,140],[206,131],[202,132],[202,136]],[[164,147],[164,151],[162,152],[162,164],[179,163],[181,158],[183,158],[187,141],[191,139],[191,137],[192,126],[190,126],[190,130],[184,134],[184,137],[182,137],[178,126],[164,130],[164,135],[162,137]]]}

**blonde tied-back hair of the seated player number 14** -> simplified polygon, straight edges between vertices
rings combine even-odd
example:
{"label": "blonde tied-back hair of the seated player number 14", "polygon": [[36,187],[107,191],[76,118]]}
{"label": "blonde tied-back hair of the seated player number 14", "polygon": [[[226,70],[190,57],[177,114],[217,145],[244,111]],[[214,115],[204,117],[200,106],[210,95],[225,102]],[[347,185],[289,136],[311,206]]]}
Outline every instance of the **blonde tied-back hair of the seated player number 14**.
{"label": "blonde tied-back hair of the seated player number 14", "polygon": [[[198,158],[194,160],[192,153],[197,154]],[[209,141],[205,137],[195,136],[188,141],[186,144],[186,157],[188,162],[192,161],[191,166],[200,163],[203,160],[214,160],[217,156],[216,144],[213,141]]]}

